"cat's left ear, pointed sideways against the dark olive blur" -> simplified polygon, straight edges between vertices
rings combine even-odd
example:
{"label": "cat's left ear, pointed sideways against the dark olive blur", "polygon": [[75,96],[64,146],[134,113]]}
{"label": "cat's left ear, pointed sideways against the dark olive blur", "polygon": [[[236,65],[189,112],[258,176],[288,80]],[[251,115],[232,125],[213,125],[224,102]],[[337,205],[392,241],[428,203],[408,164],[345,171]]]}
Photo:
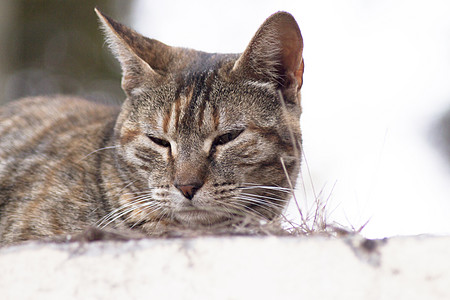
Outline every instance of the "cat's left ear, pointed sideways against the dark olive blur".
{"label": "cat's left ear, pointed sideways against the dark olive blur", "polygon": [[164,79],[173,58],[172,48],[146,38],[95,8],[106,41],[122,67],[122,89],[127,95],[145,84]]}

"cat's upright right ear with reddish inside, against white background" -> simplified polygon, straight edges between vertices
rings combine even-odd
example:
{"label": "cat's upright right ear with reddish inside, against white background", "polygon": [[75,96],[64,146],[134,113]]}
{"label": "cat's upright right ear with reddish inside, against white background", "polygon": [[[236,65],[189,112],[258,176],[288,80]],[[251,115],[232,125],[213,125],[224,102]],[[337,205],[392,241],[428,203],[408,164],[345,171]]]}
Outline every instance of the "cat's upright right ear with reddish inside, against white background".
{"label": "cat's upright right ear with reddish inside, against white background", "polygon": [[303,39],[294,17],[277,12],[258,29],[233,72],[298,92],[303,83],[302,52]]}

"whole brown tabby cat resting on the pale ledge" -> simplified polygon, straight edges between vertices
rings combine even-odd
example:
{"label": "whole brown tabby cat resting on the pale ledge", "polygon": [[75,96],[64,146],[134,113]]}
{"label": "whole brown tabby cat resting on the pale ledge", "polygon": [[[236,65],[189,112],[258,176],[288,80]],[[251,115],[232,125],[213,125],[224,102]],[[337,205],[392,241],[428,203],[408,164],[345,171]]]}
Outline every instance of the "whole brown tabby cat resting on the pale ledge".
{"label": "whole brown tabby cat resting on the pale ledge", "polygon": [[42,96],[0,109],[0,245],[90,226],[152,235],[279,216],[301,161],[293,16],[270,16],[242,54],[211,54],[95,11],[126,99]]}

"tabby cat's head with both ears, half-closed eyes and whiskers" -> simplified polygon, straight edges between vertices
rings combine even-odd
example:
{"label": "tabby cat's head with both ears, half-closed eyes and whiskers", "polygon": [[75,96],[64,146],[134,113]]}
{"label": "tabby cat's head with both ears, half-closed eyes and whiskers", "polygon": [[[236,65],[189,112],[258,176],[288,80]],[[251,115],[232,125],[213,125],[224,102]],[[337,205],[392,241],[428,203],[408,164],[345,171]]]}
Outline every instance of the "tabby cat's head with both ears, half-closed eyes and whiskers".
{"label": "tabby cat's head with both ears, half-closed eyes and whiskers", "polygon": [[242,54],[210,54],[97,14],[127,95],[115,139],[134,193],[121,199],[134,203],[130,218],[213,224],[279,215],[301,157],[303,41],[295,19],[275,13]]}

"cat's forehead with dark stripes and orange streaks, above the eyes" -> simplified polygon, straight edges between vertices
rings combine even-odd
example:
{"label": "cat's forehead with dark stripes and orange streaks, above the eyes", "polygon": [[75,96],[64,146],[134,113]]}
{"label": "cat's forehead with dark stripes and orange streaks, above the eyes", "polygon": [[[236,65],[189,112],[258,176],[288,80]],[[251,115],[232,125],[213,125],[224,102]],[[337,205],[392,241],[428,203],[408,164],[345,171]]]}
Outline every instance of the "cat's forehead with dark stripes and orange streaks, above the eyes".
{"label": "cat's forehead with dark stripes and orange streaks, above the eyes", "polygon": [[[157,92],[157,107],[144,116],[153,129],[169,135],[208,135],[245,127],[261,112],[271,111],[268,90],[254,84],[226,82],[218,69],[186,72],[175,77],[171,87]],[[156,94],[156,93],[155,93]],[[147,101],[152,101],[150,99]],[[270,108],[269,106],[272,106]]]}

